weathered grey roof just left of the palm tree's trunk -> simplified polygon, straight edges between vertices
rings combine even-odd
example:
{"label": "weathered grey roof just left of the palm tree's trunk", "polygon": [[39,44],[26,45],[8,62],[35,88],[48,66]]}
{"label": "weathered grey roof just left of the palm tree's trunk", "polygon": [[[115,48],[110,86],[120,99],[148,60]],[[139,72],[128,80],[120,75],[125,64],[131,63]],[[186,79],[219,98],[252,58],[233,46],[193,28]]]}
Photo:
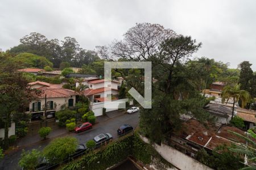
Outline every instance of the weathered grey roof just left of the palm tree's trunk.
{"label": "weathered grey roof just left of the palm tree's trunk", "polygon": [[216,116],[225,118],[229,117],[228,114],[232,114],[232,108],[221,104],[209,103],[205,106],[205,109]]}

